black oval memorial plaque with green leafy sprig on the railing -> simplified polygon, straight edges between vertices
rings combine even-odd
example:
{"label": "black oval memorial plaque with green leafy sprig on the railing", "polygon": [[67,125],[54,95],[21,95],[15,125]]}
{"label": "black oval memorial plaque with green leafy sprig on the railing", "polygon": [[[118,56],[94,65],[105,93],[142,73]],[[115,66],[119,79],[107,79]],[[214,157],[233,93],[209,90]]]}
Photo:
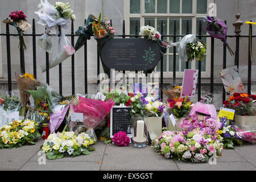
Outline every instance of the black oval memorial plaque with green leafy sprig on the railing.
{"label": "black oval memorial plaque with green leafy sprig on the railing", "polygon": [[158,64],[160,48],[147,39],[112,39],[102,47],[101,60],[115,70],[149,70]]}

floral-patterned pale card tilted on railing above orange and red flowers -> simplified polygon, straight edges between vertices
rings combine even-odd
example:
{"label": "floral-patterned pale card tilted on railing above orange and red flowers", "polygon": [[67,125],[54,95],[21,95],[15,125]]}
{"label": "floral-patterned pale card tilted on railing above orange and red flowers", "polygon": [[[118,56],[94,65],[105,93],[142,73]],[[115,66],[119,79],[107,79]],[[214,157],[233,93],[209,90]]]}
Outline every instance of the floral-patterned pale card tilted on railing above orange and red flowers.
{"label": "floral-patterned pale card tilted on railing above orange and red flowers", "polygon": [[245,92],[245,88],[243,88],[242,80],[237,69],[237,65],[234,67],[222,69],[220,71],[220,76],[228,96],[233,95],[236,92]]}

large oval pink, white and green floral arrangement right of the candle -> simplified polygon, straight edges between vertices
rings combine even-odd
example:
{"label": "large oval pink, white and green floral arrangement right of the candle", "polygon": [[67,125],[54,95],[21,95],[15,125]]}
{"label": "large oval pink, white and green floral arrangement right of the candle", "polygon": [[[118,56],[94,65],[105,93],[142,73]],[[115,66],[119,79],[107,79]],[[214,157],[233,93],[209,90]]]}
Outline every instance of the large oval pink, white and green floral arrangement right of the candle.
{"label": "large oval pink, white and green floral arrangement right of the candle", "polygon": [[210,156],[221,155],[223,143],[203,131],[164,131],[152,140],[155,152],[166,159],[183,160],[185,162],[208,162]]}

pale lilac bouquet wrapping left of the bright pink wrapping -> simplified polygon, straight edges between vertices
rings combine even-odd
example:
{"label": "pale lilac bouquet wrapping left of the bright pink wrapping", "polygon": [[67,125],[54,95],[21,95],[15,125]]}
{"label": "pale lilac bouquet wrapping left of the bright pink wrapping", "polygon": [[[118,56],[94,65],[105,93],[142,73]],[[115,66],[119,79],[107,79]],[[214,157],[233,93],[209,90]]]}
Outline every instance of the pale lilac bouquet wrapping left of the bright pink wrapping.
{"label": "pale lilac bouquet wrapping left of the bright pink wrapping", "polygon": [[55,107],[53,107],[53,113],[49,115],[49,130],[51,131],[51,133],[55,133],[55,131],[60,127],[65,115],[67,114],[68,109],[69,106],[65,105],[56,105]]}

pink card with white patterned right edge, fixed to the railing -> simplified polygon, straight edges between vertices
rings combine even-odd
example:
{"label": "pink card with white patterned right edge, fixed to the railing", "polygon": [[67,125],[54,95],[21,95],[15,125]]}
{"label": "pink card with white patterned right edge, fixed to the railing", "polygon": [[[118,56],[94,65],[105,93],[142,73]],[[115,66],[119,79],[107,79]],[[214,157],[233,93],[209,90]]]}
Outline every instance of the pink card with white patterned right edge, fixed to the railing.
{"label": "pink card with white patterned right edge, fixed to the railing", "polygon": [[182,88],[181,88],[181,97],[195,97],[196,93],[196,82],[198,77],[197,69],[185,69]]}

